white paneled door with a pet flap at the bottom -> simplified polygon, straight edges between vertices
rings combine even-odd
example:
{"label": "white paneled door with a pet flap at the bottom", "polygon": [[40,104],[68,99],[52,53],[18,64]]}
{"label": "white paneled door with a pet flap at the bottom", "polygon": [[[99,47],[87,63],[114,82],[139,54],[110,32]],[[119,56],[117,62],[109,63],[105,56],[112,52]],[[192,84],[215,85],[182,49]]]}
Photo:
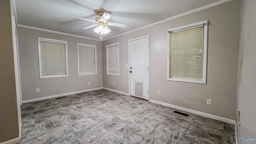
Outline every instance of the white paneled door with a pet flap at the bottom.
{"label": "white paneled door with a pet flap at the bottom", "polygon": [[149,37],[130,40],[130,95],[148,100]]}

